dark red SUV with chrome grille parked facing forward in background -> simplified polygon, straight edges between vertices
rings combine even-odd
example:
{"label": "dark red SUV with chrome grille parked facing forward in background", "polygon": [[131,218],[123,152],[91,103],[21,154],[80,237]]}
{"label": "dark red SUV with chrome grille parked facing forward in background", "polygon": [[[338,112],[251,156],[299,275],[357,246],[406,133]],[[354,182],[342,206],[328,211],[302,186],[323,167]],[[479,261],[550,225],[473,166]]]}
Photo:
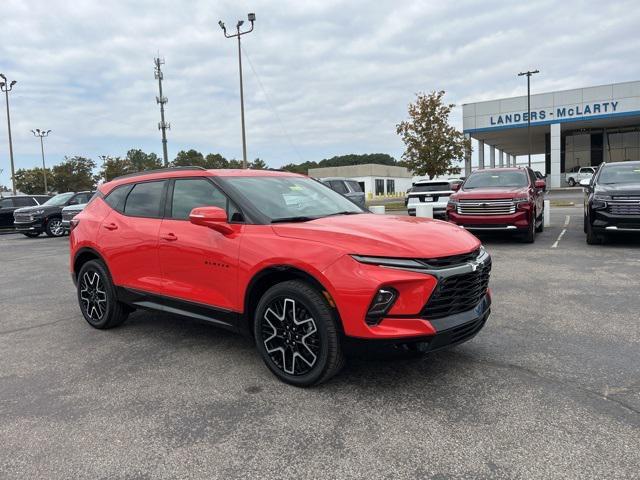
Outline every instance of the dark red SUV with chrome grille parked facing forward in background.
{"label": "dark red SUV with chrome grille parked facing forward in background", "polygon": [[472,231],[502,231],[533,243],[544,229],[546,183],[530,168],[473,172],[449,197],[447,219]]}

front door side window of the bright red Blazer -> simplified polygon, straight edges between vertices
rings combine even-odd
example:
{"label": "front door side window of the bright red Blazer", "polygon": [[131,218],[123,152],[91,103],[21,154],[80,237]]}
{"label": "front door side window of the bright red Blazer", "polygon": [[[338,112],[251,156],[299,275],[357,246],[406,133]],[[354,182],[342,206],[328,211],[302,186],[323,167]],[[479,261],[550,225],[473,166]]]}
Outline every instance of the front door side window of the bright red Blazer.
{"label": "front door side window of the bright red Blazer", "polygon": [[227,211],[227,197],[203,178],[176,180],[173,187],[171,217],[186,220],[191,210],[196,207],[220,207]]}

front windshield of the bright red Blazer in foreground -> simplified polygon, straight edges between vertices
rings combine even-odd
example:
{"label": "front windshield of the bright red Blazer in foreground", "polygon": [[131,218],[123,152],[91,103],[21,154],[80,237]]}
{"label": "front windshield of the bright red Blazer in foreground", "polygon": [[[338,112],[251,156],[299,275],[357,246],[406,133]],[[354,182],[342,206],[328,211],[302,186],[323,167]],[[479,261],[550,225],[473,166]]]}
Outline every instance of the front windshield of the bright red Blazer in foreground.
{"label": "front windshield of the bright red Blazer in foreground", "polygon": [[355,203],[306,177],[226,177],[224,181],[272,222],[363,213]]}

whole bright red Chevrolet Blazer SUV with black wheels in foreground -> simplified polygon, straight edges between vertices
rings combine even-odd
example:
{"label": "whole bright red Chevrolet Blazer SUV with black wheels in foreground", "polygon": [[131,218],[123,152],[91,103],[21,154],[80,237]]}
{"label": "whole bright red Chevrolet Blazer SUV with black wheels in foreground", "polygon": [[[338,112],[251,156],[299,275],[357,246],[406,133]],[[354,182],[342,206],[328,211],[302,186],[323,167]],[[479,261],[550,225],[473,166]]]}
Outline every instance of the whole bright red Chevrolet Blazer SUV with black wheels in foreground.
{"label": "whole bright red Chevrolet Blazer SUV with black wheels in foreground", "polygon": [[137,308],[251,335],[281,380],[343,364],[347,337],[431,351],[490,310],[491,259],[450,223],[366,212],[303,175],[180,167],[115,179],[71,223],[70,268],[95,328]]}

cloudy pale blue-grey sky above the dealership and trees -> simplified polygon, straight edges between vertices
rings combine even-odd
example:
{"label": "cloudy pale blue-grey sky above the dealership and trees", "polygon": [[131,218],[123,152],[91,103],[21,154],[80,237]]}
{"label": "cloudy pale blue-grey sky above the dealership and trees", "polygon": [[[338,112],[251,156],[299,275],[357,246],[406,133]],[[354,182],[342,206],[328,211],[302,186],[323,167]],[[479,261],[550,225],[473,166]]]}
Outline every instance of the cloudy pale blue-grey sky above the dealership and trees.
{"label": "cloudy pale blue-grey sky above the dealership and trees", "polygon": [[[402,154],[395,125],[415,93],[456,104],[640,79],[637,1],[4,0],[0,72],[16,168],[36,165],[33,128],[65,155],[160,154],[153,58],[165,58],[169,157],[242,155],[236,44],[217,22],[254,11],[243,37],[249,158],[270,166],[338,154]],[[9,183],[4,99],[0,184]],[[461,108],[451,121],[461,127]]]}

